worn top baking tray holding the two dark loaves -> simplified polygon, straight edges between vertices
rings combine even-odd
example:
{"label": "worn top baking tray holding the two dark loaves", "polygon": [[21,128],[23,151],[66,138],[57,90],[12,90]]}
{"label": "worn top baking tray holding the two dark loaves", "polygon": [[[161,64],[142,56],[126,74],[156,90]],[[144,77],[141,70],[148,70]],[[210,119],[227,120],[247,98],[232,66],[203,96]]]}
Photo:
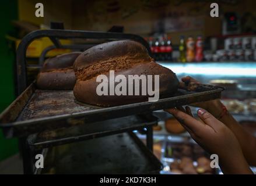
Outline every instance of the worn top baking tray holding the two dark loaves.
{"label": "worn top baking tray holding the two dark loaves", "polygon": [[5,137],[22,137],[45,130],[71,127],[118,117],[149,113],[220,98],[222,87],[194,84],[157,102],[139,102],[100,108],[76,101],[72,90],[38,90],[32,83],[0,115]]}

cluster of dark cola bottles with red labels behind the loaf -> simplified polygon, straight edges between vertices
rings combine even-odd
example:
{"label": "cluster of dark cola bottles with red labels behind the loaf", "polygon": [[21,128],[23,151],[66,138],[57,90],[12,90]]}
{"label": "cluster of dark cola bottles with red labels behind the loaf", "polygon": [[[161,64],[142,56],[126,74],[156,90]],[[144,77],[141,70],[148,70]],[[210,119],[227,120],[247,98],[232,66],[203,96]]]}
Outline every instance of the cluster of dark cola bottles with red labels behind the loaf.
{"label": "cluster of dark cola bottles with red labels behind the loaf", "polygon": [[146,41],[149,42],[150,51],[152,53],[152,57],[155,60],[163,61],[172,59],[173,47],[171,45],[170,37],[149,37],[145,38]]}

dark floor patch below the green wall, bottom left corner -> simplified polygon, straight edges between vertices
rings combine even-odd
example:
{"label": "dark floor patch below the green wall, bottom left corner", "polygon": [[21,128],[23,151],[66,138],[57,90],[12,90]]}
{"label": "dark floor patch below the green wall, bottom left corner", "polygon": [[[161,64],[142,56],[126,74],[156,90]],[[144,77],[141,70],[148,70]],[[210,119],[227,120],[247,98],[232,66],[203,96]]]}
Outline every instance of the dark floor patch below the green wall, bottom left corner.
{"label": "dark floor patch below the green wall, bottom left corner", "polygon": [[23,174],[22,158],[19,154],[0,162],[0,174]]}

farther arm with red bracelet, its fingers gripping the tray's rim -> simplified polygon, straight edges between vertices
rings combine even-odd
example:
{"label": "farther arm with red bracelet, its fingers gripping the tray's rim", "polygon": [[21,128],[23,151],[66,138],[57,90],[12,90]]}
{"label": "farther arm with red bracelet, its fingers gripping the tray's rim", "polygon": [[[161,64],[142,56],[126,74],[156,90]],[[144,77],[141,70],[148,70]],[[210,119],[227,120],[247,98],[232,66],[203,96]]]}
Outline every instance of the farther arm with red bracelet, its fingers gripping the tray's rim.
{"label": "farther arm with red bracelet, its fingers gripping the tray's rim", "polygon": [[[192,77],[184,77],[181,79],[183,82],[188,83],[199,83]],[[185,84],[181,83],[181,86],[185,86]],[[213,101],[207,101],[202,103],[196,103],[192,106],[197,106],[199,108],[203,108],[207,110],[211,115],[218,118],[219,121],[224,123],[236,136],[241,149],[243,151],[244,157],[250,166],[256,166],[256,138],[248,133],[244,128],[239,124],[232,115],[227,112],[221,118],[219,117],[223,112],[223,105],[219,99]]]}

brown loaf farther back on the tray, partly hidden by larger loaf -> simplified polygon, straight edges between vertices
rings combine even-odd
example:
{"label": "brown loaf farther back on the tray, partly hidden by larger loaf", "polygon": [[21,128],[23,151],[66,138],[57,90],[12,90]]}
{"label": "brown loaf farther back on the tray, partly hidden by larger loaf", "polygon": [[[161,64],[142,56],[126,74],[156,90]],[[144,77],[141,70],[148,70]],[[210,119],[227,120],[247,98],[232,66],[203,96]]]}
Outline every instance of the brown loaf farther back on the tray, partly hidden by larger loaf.
{"label": "brown loaf farther back on the tray, partly hidden by larger loaf", "polygon": [[45,90],[72,90],[76,82],[73,63],[81,53],[65,53],[47,59],[37,76],[37,87]]}

